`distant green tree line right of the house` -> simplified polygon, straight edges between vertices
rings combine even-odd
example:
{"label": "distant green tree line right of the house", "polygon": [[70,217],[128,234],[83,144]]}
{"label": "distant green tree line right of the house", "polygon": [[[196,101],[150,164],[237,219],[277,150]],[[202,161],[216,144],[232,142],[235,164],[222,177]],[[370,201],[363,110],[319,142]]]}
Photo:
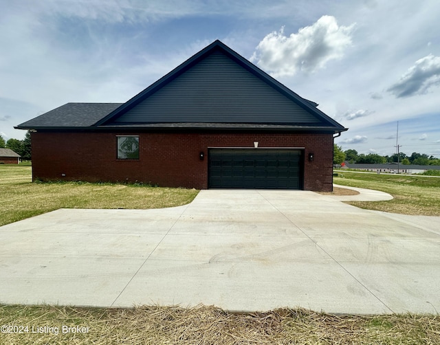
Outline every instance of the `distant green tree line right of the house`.
{"label": "distant green tree line right of the house", "polygon": [[381,156],[377,155],[377,153],[364,155],[364,153],[358,153],[358,151],[353,149],[342,151],[342,147],[336,144],[334,144],[333,152],[333,164],[341,164],[346,161],[351,164],[386,164],[399,161],[402,165],[440,166],[440,159],[417,152],[413,152],[409,156],[403,152],[399,153],[399,155],[395,153],[391,156]]}

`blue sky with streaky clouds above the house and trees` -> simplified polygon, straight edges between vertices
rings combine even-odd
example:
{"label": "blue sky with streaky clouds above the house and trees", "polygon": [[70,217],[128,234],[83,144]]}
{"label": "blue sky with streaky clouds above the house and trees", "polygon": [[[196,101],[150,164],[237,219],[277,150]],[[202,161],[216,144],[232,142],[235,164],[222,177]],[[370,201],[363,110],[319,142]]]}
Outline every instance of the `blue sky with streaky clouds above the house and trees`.
{"label": "blue sky with streaky clouds above the house and trees", "polygon": [[349,131],[440,157],[438,0],[0,0],[0,135],[67,102],[126,102],[219,39]]}

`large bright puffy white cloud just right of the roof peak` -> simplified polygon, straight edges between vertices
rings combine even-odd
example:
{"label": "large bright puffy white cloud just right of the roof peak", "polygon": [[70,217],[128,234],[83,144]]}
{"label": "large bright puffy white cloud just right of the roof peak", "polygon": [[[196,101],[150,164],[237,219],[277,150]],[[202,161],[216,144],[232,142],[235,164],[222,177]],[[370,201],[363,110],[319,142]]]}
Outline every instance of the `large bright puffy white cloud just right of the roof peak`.
{"label": "large bright puffy white cloud just right of the roof peak", "polygon": [[298,70],[316,71],[344,56],[351,45],[353,26],[339,26],[334,16],[321,16],[288,37],[282,27],[263,38],[251,60],[275,77],[293,76]]}

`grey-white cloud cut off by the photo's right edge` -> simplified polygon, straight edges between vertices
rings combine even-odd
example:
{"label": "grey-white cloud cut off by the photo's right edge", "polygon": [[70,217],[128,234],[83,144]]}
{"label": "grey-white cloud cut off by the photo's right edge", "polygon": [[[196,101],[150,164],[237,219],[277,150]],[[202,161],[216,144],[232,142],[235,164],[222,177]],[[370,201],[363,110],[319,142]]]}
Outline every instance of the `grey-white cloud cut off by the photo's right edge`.
{"label": "grey-white cloud cut off by the photo's right edge", "polygon": [[427,93],[437,85],[440,85],[440,56],[429,54],[417,60],[387,91],[401,98]]}

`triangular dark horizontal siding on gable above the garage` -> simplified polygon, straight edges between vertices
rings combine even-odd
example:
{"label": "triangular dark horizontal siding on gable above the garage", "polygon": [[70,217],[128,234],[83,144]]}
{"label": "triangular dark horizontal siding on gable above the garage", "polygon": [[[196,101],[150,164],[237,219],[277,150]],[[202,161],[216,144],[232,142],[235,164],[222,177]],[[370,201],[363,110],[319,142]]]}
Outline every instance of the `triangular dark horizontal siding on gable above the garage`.
{"label": "triangular dark horizontal siding on gable above the garage", "polygon": [[214,52],[114,123],[151,122],[318,124],[320,121],[221,52]]}

